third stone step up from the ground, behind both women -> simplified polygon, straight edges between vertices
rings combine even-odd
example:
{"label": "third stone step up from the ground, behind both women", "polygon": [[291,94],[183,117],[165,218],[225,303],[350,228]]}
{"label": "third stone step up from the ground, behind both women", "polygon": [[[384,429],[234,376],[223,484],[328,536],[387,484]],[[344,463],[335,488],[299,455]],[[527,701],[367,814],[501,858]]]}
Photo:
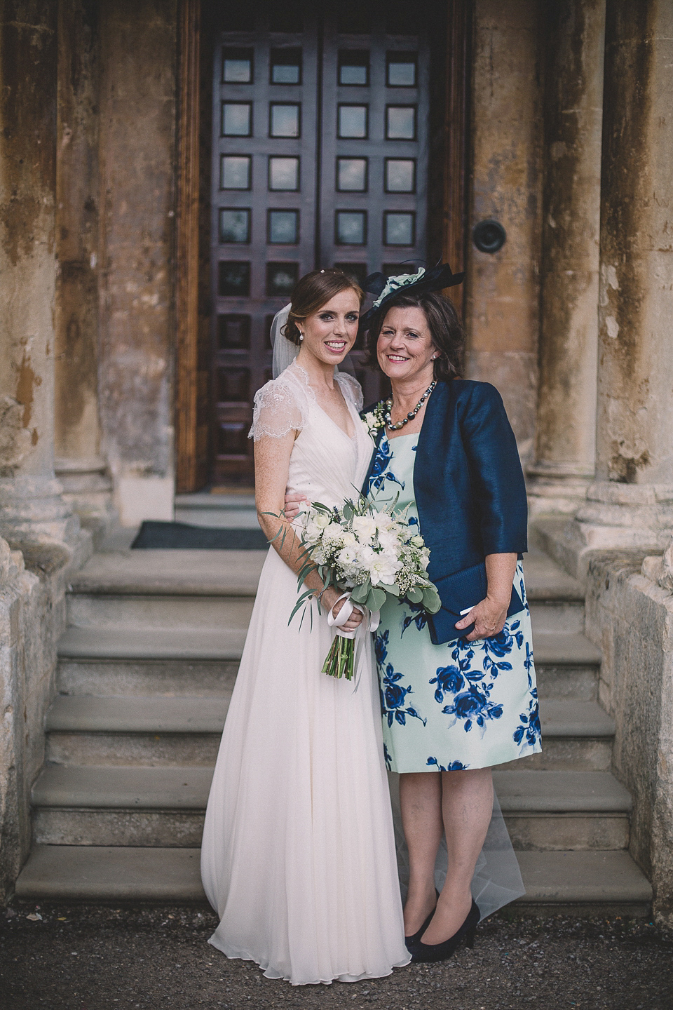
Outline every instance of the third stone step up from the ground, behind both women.
{"label": "third stone step up from the ground, behind both women", "polygon": [[[233,678],[216,697],[59,695],[45,718],[48,762],[213,766]],[[606,771],[614,724],[597,702],[540,707],[544,749],[507,768]]]}

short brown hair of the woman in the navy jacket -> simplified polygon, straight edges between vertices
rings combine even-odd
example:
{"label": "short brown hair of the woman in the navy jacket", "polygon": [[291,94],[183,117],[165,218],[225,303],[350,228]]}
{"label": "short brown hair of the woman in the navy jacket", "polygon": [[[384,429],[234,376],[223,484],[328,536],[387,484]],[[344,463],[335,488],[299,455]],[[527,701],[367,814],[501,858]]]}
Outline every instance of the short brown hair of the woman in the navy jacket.
{"label": "short brown hair of the woman in the navy jacket", "polygon": [[453,302],[434,291],[418,294],[413,291],[405,294],[404,291],[401,291],[399,295],[380,307],[378,312],[372,316],[367,331],[367,365],[380,371],[376,357],[378,334],[385,321],[385,316],[390,309],[397,308],[421,309],[428,320],[433,345],[439,351],[434,363],[435,379],[460,378],[463,374],[465,331]]}

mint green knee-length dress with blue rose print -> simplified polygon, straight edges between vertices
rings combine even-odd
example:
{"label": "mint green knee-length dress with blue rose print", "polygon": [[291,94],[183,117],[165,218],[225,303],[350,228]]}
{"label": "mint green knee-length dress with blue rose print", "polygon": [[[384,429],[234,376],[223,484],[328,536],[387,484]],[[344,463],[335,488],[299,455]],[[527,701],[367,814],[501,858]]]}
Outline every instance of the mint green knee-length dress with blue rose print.
{"label": "mint green knee-length dress with blue rose print", "polygon": [[[379,508],[399,496],[397,507],[408,507],[412,524],[419,522],[414,501],[418,440],[418,432],[391,441],[383,434],[368,488],[369,501]],[[434,645],[421,606],[386,600],[374,647],[389,771],[487,768],[542,749],[521,562],[515,585],[525,609],[508,617],[499,634],[477,641],[456,637]]]}

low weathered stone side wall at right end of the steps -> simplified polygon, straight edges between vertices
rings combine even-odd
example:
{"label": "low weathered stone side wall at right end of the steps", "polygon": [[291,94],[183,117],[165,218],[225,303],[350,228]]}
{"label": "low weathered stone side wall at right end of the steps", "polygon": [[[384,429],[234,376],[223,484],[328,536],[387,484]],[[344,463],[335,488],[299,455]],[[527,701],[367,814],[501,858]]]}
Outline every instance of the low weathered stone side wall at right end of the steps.
{"label": "low weathered stone side wall at right end of the steps", "polygon": [[[654,560],[654,559],[653,559]],[[614,717],[614,771],[634,798],[631,852],[673,924],[673,593],[638,551],[589,564],[586,632],[603,653],[600,701]]]}

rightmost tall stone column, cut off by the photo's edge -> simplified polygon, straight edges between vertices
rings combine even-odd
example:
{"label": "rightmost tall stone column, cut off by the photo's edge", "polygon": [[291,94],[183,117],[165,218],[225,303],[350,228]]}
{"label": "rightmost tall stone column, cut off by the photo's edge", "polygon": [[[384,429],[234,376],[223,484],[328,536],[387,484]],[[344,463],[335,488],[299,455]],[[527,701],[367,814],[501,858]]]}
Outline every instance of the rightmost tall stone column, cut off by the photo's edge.
{"label": "rightmost tall stone column, cut off by the photo's edge", "polygon": [[661,551],[673,528],[672,95],[673,4],[608,0],[596,481],[567,533],[580,553]]}

